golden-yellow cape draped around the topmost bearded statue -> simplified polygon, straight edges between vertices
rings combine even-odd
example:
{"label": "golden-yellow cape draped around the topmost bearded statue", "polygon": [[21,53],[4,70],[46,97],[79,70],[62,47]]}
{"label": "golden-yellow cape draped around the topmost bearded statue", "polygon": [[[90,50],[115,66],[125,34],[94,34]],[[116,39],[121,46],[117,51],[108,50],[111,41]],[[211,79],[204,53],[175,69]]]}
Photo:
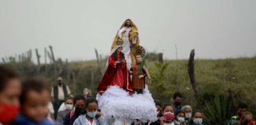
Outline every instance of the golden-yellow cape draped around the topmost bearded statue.
{"label": "golden-yellow cape draped around the topmost bearded statue", "polygon": [[[127,22],[130,22],[130,26],[126,26],[126,23]],[[136,59],[135,57],[133,56],[133,54],[131,53],[134,49],[135,46],[138,46],[139,45],[139,34],[138,34],[138,28],[136,27],[136,25],[133,23],[133,21],[131,21],[130,19],[127,19],[125,20],[123,23],[122,23],[122,26],[120,27],[119,31],[123,28],[130,28],[131,30],[129,31],[129,42],[131,44],[130,46],[130,53],[128,55],[128,58],[131,57],[131,61],[132,61],[132,64],[135,64],[136,62]],[[118,32],[119,32],[118,31]],[[122,37],[123,37],[123,33],[122,33]],[[114,40],[113,40],[113,43],[111,45],[111,50],[117,45],[117,43],[120,43],[120,41],[122,40],[123,38],[120,38],[118,33],[116,34]]]}

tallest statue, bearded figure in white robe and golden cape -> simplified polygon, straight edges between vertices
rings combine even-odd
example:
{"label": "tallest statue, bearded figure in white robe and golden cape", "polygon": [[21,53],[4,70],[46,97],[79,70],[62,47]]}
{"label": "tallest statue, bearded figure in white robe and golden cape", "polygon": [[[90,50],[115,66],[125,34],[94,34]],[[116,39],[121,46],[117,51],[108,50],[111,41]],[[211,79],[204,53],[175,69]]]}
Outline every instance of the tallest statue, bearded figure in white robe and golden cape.
{"label": "tallest statue, bearded figure in white robe and golden cape", "polygon": [[122,53],[124,53],[124,57],[127,63],[128,68],[130,69],[132,64],[135,64],[135,57],[131,54],[131,50],[135,46],[139,45],[139,34],[138,28],[132,22],[132,20],[127,19],[124,23],[122,23],[121,28],[118,30],[118,33],[115,36],[115,39],[112,43],[111,50],[116,46],[117,41],[122,41]]}

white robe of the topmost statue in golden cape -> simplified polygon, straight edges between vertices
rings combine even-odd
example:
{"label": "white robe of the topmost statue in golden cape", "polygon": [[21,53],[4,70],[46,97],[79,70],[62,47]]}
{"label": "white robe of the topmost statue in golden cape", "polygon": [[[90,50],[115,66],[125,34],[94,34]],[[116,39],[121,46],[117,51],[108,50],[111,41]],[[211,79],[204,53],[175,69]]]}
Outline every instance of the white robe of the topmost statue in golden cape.
{"label": "white robe of the topmost statue in golden cape", "polygon": [[[126,30],[125,33],[123,33],[123,31]],[[122,27],[122,29],[120,29],[118,31],[118,37],[122,38],[123,44],[122,44],[122,53],[124,54],[126,63],[128,68],[132,68],[132,60],[131,60],[131,43],[129,41],[129,32],[130,32],[131,28],[126,28],[126,27]],[[123,36],[122,36],[123,33]],[[134,43],[132,44],[136,44],[137,41],[137,37],[134,38]]]}

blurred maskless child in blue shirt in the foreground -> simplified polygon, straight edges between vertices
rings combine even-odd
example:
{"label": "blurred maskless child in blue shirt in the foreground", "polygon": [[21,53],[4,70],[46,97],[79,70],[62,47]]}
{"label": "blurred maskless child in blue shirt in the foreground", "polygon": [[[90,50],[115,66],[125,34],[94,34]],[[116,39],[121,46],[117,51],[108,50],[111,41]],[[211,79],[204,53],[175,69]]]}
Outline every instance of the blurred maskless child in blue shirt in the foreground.
{"label": "blurred maskless child in blue shirt in the foreground", "polygon": [[14,125],[53,125],[47,119],[50,101],[49,86],[37,79],[28,79],[22,83],[20,97],[21,112]]}

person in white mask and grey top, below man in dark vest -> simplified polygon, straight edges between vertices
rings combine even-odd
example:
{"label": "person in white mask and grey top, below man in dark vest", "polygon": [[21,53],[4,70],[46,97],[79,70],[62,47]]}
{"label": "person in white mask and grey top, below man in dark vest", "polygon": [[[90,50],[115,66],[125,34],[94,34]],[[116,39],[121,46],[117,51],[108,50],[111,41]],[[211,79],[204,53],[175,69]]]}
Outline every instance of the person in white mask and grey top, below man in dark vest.
{"label": "person in white mask and grey top, below man in dark vest", "polygon": [[67,113],[73,110],[73,98],[65,99],[65,110],[59,111],[57,115],[57,121],[63,123]]}

